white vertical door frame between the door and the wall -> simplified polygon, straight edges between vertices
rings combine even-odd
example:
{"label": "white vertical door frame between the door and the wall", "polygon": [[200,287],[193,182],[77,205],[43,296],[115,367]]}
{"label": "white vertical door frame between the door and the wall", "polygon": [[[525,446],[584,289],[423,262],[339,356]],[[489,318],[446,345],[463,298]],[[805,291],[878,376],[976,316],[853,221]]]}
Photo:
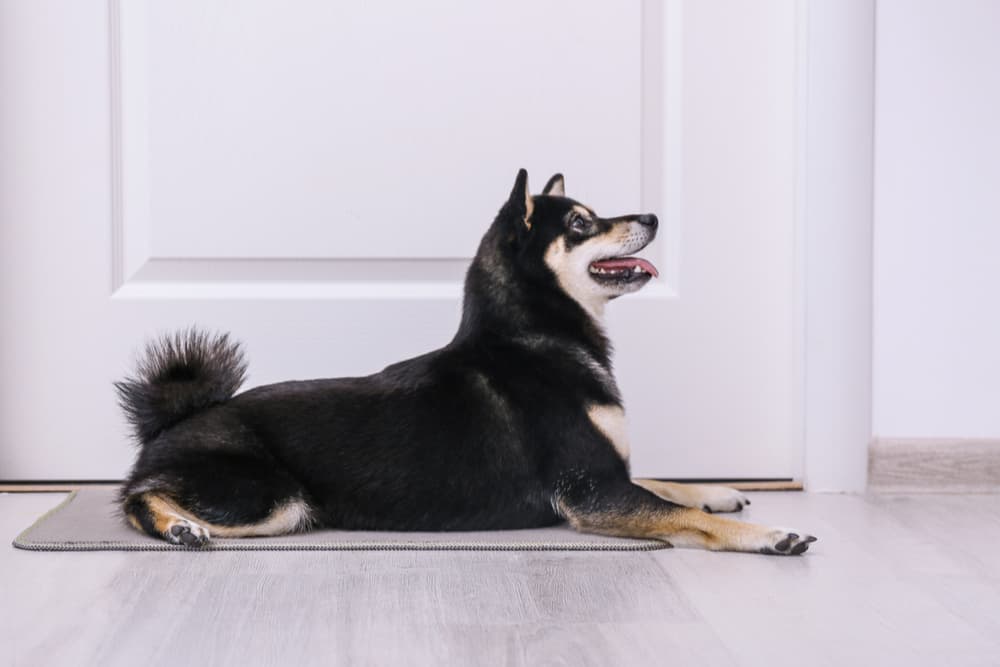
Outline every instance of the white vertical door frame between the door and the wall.
{"label": "white vertical door frame between the door and the wall", "polygon": [[875,0],[799,2],[804,482],[861,492],[871,440]]}

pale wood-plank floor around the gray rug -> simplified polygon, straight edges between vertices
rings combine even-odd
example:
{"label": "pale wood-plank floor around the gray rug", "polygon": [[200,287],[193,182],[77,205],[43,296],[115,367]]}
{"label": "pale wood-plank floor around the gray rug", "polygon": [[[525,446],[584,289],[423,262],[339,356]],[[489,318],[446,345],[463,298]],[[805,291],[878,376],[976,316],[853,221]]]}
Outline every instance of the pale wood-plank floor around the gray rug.
{"label": "pale wood-plank floor around the gray rug", "polygon": [[1000,496],[755,493],[802,558],[29,553],[0,495],[0,664],[1000,665]]}

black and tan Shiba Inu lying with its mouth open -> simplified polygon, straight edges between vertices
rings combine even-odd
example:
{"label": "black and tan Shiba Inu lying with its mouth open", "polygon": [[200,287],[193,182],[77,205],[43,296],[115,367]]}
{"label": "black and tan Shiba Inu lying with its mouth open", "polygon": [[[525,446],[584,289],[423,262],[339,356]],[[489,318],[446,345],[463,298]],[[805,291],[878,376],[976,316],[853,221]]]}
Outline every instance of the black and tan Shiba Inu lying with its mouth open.
{"label": "black and tan Shiba Inu lying with its mouth open", "polygon": [[139,443],[125,518],[190,548],[312,528],[568,522],[672,546],[805,552],[815,537],[717,516],[749,504],[734,489],[630,478],[602,317],[657,276],[632,256],[656,231],[655,215],[598,216],[560,174],[532,196],[522,169],[439,350],[367,377],[237,394],[246,362],[227,335],[150,343],[115,385]]}

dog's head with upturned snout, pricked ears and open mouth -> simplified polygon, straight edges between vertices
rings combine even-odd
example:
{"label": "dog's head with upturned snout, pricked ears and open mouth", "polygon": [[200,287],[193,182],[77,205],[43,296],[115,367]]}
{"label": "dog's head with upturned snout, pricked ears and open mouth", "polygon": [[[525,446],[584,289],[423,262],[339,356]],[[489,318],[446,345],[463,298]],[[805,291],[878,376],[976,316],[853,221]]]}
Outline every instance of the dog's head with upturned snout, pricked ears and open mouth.
{"label": "dog's head with upturned snout, pricked ears and open mouth", "polygon": [[541,195],[532,196],[522,169],[497,224],[508,227],[521,272],[547,272],[584,310],[599,316],[608,300],[635,292],[658,275],[648,260],[633,256],[656,237],[656,216],[602,218],[567,197],[565,188],[562,174],[556,174]]}

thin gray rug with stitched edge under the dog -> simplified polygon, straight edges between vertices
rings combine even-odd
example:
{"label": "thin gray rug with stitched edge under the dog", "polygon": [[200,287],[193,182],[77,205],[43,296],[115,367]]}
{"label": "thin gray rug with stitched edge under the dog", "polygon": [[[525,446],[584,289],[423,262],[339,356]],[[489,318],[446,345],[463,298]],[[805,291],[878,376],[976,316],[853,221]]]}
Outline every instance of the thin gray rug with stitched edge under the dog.
{"label": "thin gray rug with stitched edge under the dog", "polygon": [[648,551],[666,545],[577,533],[565,526],[530,530],[396,533],[317,530],[281,537],[213,539],[189,549],[139,533],[118,514],[115,489],[74,491],[17,536],[14,546],[31,551]]}

